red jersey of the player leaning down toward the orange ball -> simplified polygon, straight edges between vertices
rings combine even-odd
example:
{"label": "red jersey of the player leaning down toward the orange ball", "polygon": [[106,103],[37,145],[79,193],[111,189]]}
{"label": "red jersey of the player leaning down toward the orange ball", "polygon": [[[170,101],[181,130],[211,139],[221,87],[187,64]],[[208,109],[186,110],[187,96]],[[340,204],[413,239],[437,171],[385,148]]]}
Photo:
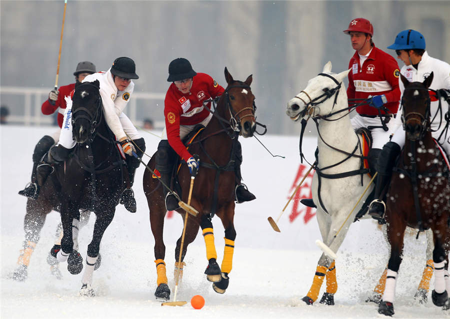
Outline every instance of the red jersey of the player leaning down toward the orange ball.
{"label": "red jersey of the player leaning down toward the orange ball", "polygon": [[207,103],[203,107],[203,101],[215,98],[221,95],[223,91],[225,90],[205,73],[197,73],[192,78],[192,86],[186,94],[181,93],[174,83],[170,84],[164,100],[167,141],[184,160],[187,160],[192,155],[181,142],[179,126],[195,125],[206,119],[209,111],[205,107],[210,109],[211,103]]}

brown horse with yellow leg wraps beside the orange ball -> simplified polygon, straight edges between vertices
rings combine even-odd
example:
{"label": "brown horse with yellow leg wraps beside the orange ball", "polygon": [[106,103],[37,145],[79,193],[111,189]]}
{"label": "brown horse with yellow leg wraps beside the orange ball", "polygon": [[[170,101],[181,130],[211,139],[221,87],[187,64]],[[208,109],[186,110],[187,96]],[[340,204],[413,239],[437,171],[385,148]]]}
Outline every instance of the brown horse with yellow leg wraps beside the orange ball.
{"label": "brown horse with yellow leg wraps beside the orange ball", "polygon": [[[234,217],[234,152],[238,135],[251,137],[255,130],[254,96],[250,90],[252,76],[244,81],[234,81],[225,68],[225,80],[228,84],[221,95],[213,117],[206,128],[195,137],[189,146],[189,152],[199,156],[200,168],[195,177],[191,206],[199,214],[187,219],[184,245],[182,247],[181,263],[177,259],[180,251],[181,237],[176,242],[175,268],[181,268],[182,259],[187,245],[191,243],[201,226],[206,245],[208,266],[205,270],[207,279],[213,281],[213,288],[218,293],[224,293],[228,286],[228,273],[231,271],[234,238],[236,232],[233,225]],[[154,169],[155,156],[148,166]],[[183,162],[178,173],[178,181],[182,189],[181,200],[188,197],[190,174]],[[170,290],[167,286],[165,271],[165,246],[162,238],[164,216],[166,209],[162,185],[158,179],[152,178],[152,173],[146,170],[143,176],[143,188],[150,209],[150,225],[154,244],[154,256],[157,272],[157,288],[155,296],[158,299],[169,299]],[[184,211],[177,210],[182,216]],[[221,267],[216,262],[214,236],[211,218],[217,215],[225,229],[225,247]]]}

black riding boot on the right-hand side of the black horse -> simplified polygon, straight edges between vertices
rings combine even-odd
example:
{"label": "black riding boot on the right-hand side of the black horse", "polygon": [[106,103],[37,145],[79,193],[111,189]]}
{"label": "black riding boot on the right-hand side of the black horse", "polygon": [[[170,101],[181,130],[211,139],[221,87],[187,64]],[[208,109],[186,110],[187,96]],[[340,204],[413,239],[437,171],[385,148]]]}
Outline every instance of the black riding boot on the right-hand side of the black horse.
{"label": "black riding boot on the right-hand side of the black horse", "polygon": [[[143,138],[132,140],[133,145],[136,148],[137,157],[142,157],[143,152],[145,152],[145,141]],[[137,210],[136,200],[134,199],[134,192],[131,189],[134,183],[134,174],[136,173],[136,168],[139,167],[140,161],[134,156],[125,155],[126,165],[128,166],[128,177],[129,177],[129,188],[125,188],[120,196],[120,204],[125,206],[125,209],[131,213],[135,213]]]}

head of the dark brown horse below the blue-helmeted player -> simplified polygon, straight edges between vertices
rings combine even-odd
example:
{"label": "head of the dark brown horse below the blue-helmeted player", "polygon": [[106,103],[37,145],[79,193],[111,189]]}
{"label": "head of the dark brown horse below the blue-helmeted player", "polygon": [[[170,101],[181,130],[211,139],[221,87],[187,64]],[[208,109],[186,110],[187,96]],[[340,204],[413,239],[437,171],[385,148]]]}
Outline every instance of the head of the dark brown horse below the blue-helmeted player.
{"label": "head of the dark brown horse below the blue-helmeted player", "polygon": [[409,82],[400,74],[404,85],[401,105],[403,108],[402,122],[406,137],[416,141],[423,137],[423,133],[429,128],[430,98],[428,88],[433,81],[433,73],[423,82]]}

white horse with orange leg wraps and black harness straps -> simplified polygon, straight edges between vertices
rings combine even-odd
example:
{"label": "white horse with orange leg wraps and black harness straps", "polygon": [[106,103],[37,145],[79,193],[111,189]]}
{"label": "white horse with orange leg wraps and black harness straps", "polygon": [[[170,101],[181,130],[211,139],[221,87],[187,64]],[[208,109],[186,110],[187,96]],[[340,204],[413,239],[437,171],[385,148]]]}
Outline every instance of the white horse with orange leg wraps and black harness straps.
{"label": "white horse with orange leg wraps and black harness straps", "polygon": [[[313,201],[317,206],[316,216],[324,243],[321,245],[324,253],[318,260],[311,288],[302,298],[307,304],[312,304],[317,299],[325,276],[326,292],[323,293],[320,303],[334,304],[334,293],[337,290],[335,253],[344,240],[348,227],[374,187],[373,183],[369,185],[370,177],[366,171],[360,169],[361,136],[358,136],[351,126],[347,94],[342,83],[348,72],[349,70],[339,74],[331,73],[331,62],[328,62],[323,67],[322,73],[310,79],[307,87],[287,103],[286,113],[293,121],[313,118],[318,122],[318,158],[314,167],[316,171],[311,190]],[[367,186],[368,189],[356,205]],[[385,227],[383,232],[385,233]],[[432,248],[427,249],[427,252],[429,251],[432,251]],[[428,255],[427,253],[427,257]],[[419,291],[416,293],[416,297],[425,299],[424,301],[432,265],[431,274],[426,271],[429,268],[425,266],[418,289],[421,293]],[[384,290],[384,282],[383,273],[368,301],[379,301]]]}

